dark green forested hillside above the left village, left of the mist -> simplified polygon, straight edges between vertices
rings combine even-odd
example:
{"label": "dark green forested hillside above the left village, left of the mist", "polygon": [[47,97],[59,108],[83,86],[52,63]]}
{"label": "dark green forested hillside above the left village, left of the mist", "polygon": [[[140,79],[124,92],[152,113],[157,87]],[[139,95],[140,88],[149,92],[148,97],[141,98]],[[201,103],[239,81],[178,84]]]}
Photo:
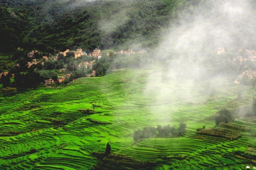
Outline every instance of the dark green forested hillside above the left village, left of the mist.
{"label": "dark green forested hillside above the left village, left of the mist", "polygon": [[155,47],[184,0],[1,0],[0,51]]}

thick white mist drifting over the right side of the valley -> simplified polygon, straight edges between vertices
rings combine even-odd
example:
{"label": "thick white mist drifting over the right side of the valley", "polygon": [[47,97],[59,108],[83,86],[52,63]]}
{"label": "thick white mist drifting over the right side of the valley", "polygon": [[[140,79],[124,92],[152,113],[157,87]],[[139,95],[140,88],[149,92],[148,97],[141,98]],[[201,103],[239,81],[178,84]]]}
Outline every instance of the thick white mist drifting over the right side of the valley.
{"label": "thick white mist drifting over the right side of the valley", "polygon": [[[207,100],[209,93],[229,78],[221,72],[209,74],[218,70],[213,62],[220,57],[212,51],[224,47],[227,52],[237,52],[250,48],[256,38],[255,13],[249,0],[201,1],[189,9],[179,14],[176,23],[171,21],[154,52],[156,60],[165,62],[164,68],[152,71],[144,91],[145,96],[155,96],[155,105],[197,103],[196,91]],[[166,118],[171,119],[171,110]]]}

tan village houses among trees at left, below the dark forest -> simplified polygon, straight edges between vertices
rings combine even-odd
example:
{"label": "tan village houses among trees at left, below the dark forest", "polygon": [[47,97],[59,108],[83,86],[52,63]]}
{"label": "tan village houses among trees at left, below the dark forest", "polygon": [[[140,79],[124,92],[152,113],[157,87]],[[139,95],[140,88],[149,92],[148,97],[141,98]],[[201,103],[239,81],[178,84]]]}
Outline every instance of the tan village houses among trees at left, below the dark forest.
{"label": "tan village houses among trees at left, below the dark forest", "polygon": [[[17,48],[17,51],[23,51],[22,48]],[[58,77],[57,78],[49,78],[44,80],[45,85],[51,85],[51,84],[62,84],[63,82],[66,82],[67,79],[72,76],[72,70],[85,70],[86,74],[84,76],[87,77],[94,77],[96,76],[96,70],[93,69],[93,65],[96,61],[102,58],[102,56],[110,57],[112,55],[135,55],[135,54],[145,54],[147,51],[142,50],[138,52],[134,52],[133,50],[121,50],[116,52],[104,52],[102,54],[101,49],[95,48],[92,52],[85,52],[82,50],[82,48],[78,48],[75,51],[71,51],[69,49],[65,51],[57,51],[55,52],[55,55],[49,54],[49,53],[42,53],[38,50],[32,50],[30,52],[27,52],[27,64],[25,65],[27,69],[42,69],[46,68],[47,70],[55,70],[58,69],[59,71],[56,72]],[[70,58],[69,61],[66,61],[68,58]],[[73,58],[73,59],[72,59]],[[61,64],[60,61],[63,61],[64,63]],[[58,64],[58,67],[49,67],[49,62],[54,63],[56,62]],[[55,63],[55,64],[56,64]],[[13,66],[13,68],[20,68],[21,63],[17,63]],[[2,72],[0,74],[0,78],[2,75],[7,76],[9,74],[8,71]],[[77,77],[77,75],[74,75]],[[14,74],[12,74],[12,77],[14,77]],[[73,78],[72,78],[73,80]]]}

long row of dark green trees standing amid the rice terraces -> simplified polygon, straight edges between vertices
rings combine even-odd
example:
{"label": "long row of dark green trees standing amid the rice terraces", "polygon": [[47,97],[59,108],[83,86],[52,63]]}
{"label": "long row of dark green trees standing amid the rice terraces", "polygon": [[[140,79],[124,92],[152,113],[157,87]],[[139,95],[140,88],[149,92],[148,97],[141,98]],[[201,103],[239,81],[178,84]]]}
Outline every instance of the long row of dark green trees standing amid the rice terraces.
{"label": "long row of dark green trees standing amid the rice terraces", "polygon": [[170,125],[157,127],[147,126],[143,129],[134,130],[133,139],[134,141],[150,138],[150,137],[178,137],[184,136],[186,133],[187,125],[184,122],[180,122],[178,128],[175,126],[171,127]]}

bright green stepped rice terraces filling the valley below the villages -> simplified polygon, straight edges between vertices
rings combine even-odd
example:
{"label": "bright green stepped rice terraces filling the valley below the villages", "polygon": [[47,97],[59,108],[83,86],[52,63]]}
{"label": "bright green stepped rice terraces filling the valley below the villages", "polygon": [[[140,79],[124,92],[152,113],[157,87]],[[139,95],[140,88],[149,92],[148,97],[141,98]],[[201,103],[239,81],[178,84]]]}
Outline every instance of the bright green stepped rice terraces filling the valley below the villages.
{"label": "bright green stepped rice terraces filling the valley below the villages", "polygon": [[[154,162],[152,169],[256,169],[255,118],[220,124],[240,127],[234,129],[242,136],[234,140],[196,133],[215,126],[213,115],[221,107],[250,105],[254,88],[244,86],[237,101],[239,85],[221,80],[214,95],[205,85],[164,81],[147,69],[118,69],[1,97],[0,169],[91,169],[99,162],[93,153],[105,152],[107,143],[111,153]],[[184,137],[133,140],[139,128],[177,127],[181,121],[187,124]]]}

